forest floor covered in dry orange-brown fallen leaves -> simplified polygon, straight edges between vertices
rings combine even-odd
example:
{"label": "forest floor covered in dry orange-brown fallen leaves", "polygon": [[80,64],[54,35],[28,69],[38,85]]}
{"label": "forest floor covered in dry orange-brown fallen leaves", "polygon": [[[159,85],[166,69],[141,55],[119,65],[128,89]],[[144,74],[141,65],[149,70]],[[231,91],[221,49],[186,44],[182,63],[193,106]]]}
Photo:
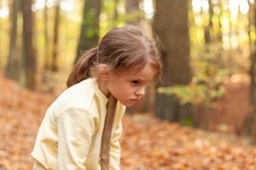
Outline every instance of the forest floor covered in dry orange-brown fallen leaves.
{"label": "forest floor covered in dry orange-brown fallen leaves", "polygon": [[[54,97],[0,77],[0,170],[32,169],[30,152]],[[122,169],[256,169],[247,140],[160,122],[151,114],[123,120]]]}

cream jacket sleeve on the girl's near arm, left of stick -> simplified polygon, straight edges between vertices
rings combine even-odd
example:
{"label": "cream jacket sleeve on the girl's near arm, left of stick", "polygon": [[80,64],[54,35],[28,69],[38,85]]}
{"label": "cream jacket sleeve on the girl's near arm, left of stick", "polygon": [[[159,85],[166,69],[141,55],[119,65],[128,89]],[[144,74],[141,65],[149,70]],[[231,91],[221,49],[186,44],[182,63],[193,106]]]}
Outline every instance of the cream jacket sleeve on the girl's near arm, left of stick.
{"label": "cream jacket sleeve on the girl's near arm, left of stick", "polygon": [[92,112],[69,108],[57,117],[58,169],[85,170],[84,162],[92,142],[98,119]]}

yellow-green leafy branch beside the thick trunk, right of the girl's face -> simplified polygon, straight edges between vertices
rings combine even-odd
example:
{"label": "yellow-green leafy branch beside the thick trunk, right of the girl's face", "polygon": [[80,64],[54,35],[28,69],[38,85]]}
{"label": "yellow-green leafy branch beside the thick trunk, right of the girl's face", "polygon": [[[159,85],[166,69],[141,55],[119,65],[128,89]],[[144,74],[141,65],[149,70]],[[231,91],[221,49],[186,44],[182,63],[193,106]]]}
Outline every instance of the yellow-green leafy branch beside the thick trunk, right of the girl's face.
{"label": "yellow-green leafy branch beside the thick trunk, right of the girl's face", "polygon": [[224,94],[223,79],[230,73],[228,69],[220,68],[218,56],[222,56],[220,50],[194,58],[191,63],[194,69],[191,83],[159,87],[158,93],[174,95],[181,105],[203,103],[207,108],[216,108],[216,99]]}

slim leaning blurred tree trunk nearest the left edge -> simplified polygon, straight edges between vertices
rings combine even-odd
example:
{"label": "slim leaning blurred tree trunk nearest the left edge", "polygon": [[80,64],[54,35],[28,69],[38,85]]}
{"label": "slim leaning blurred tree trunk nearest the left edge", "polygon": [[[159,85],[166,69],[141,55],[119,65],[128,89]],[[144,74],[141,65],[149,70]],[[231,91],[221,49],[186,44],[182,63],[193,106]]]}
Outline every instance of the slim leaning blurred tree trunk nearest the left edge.
{"label": "slim leaning blurred tree trunk nearest the left edge", "polygon": [[16,38],[17,38],[17,17],[18,10],[20,9],[20,0],[13,1],[12,10],[12,21],[11,21],[11,36],[10,36],[10,46],[9,46],[9,60],[7,63],[7,68],[5,76],[9,79],[18,79],[18,58],[16,54]]}

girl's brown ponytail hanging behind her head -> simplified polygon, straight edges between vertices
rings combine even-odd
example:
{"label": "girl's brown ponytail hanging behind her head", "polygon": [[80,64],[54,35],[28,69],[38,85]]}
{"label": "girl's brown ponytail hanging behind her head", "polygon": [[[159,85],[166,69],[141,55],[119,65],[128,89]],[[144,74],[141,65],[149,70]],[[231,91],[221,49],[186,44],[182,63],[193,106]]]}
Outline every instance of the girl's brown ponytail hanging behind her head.
{"label": "girl's brown ponytail hanging behind her head", "polygon": [[75,68],[67,79],[67,87],[71,87],[91,77],[91,67],[95,64],[98,47],[87,50],[75,64]]}

